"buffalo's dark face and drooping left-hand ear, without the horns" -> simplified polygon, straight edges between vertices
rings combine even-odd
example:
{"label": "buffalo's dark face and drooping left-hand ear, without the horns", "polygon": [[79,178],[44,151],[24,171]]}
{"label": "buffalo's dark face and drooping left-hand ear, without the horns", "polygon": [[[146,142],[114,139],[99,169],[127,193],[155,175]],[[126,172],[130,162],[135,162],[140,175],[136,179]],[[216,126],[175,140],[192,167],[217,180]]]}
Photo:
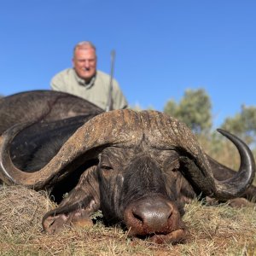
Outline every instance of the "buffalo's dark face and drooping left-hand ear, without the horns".
{"label": "buffalo's dark face and drooping left-hand ear, without the horns", "polygon": [[98,165],[84,172],[60,207],[44,216],[44,230],[54,233],[71,223],[87,225],[90,214],[101,209],[108,224],[125,224],[130,236],[181,241],[181,191],[188,188],[178,168],[173,150],[137,148],[134,154],[131,148],[106,148]]}

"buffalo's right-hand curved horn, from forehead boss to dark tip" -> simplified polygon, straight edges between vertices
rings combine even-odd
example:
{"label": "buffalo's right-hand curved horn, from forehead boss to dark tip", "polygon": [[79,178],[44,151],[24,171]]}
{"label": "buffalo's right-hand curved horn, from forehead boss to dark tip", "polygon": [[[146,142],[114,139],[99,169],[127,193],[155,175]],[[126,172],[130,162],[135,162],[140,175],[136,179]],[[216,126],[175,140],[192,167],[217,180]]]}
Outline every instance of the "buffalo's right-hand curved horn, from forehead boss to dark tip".
{"label": "buffalo's right-hand curved horn, from forehead boss to dark tip", "polygon": [[186,125],[163,113],[154,112],[154,118],[150,121],[150,115],[145,113],[141,115],[144,117],[143,124],[152,123],[148,125],[151,127],[148,129],[150,144],[157,148],[179,151],[181,164],[187,167],[184,168],[187,172],[185,175],[189,177],[189,182],[199,189],[199,192],[219,200],[228,200],[240,196],[253,183],[256,169],[253,154],[245,143],[230,132],[218,129],[235,144],[240,154],[241,165],[234,177],[218,181],[213,177],[206,154]]}

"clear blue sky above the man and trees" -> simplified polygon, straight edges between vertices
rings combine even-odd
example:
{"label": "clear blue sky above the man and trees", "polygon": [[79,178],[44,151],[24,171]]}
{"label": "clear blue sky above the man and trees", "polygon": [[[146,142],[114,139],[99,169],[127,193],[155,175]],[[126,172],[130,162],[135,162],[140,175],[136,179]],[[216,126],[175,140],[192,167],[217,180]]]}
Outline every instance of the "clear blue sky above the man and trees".
{"label": "clear blue sky above the man and trees", "polygon": [[96,44],[97,67],[131,106],[162,111],[203,88],[213,126],[256,104],[255,0],[0,0],[0,94],[49,90],[73,46]]}

